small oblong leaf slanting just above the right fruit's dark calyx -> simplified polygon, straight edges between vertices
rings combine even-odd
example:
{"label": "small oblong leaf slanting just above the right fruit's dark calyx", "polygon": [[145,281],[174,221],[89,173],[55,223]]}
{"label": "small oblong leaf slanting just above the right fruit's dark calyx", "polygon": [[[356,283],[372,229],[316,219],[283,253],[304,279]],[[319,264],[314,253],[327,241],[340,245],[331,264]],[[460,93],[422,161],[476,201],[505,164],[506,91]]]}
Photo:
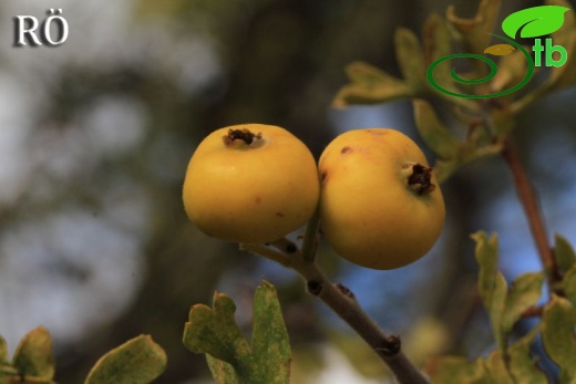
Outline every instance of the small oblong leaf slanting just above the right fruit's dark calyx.
{"label": "small oblong leaf slanting just above the right fruit's dark calyx", "polygon": [[424,100],[415,98],[414,120],[420,136],[424,143],[444,160],[453,159],[457,156],[460,143],[450,134],[449,129],[440,122],[434,108]]}

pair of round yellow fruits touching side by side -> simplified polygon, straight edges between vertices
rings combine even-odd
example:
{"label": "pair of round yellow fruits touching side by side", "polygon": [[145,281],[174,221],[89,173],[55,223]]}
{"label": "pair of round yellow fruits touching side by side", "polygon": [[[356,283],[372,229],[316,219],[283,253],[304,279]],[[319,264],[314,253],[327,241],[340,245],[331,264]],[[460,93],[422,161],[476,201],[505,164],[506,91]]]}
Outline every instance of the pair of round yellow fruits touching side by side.
{"label": "pair of round yellow fruits touching side by side", "polygon": [[420,259],[440,236],[445,216],[424,155],[389,128],[339,135],[318,167],[308,147],[278,126],[217,129],[192,156],[183,199],[202,231],[245,243],[285,237],[319,205],[321,231],[335,251],[372,269]]}

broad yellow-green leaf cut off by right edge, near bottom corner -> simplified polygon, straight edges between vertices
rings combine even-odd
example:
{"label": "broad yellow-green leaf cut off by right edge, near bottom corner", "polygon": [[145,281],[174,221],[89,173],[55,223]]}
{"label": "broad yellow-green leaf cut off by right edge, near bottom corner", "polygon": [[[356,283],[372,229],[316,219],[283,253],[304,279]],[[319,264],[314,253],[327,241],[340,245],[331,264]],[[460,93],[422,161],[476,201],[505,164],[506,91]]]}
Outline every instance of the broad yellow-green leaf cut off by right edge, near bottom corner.
{"label": "broad yellow-green leaf cut off by right edge, near bottom corner", "polygon": [[548,356],[560,369],[560,383],[576,380],[576,308],[564,298],[554,295],[545,307],[542,338]]}

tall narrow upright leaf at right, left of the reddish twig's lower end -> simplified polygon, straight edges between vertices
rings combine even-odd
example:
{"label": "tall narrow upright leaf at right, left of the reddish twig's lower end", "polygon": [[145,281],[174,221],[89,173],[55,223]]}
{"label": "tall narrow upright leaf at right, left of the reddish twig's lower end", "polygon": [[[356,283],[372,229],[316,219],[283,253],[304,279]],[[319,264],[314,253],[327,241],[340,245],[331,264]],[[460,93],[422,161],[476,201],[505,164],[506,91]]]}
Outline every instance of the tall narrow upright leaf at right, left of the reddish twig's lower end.
{"label": "tall narrow upright leaf at right, left of the reddish twig's lower end", "polygon": [[507,284],[497,270],[498,240],[496,235],[490,238],[486,232],[472,235],[476,241],[475,257],[480,267],[479,293],[484,302],[492,324],[492,331],[500,349],[506,349],[506,335],[503,329],[503,316],[506,305]]}

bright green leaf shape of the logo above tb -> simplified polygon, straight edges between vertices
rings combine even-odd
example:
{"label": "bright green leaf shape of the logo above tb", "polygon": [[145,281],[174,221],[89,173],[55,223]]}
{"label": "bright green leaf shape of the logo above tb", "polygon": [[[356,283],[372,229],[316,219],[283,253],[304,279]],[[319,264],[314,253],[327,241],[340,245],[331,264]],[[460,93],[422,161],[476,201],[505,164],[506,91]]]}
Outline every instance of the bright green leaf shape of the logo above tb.
{"label": "bright green leaf shape of the logo above tb", "polygon": [[523,9],[508,15],[502,22],[502,30],[512,39],[520,31],[521,38],[537,38],[556,32],[564,24],[564,13],[569,8],[541,6]]}

